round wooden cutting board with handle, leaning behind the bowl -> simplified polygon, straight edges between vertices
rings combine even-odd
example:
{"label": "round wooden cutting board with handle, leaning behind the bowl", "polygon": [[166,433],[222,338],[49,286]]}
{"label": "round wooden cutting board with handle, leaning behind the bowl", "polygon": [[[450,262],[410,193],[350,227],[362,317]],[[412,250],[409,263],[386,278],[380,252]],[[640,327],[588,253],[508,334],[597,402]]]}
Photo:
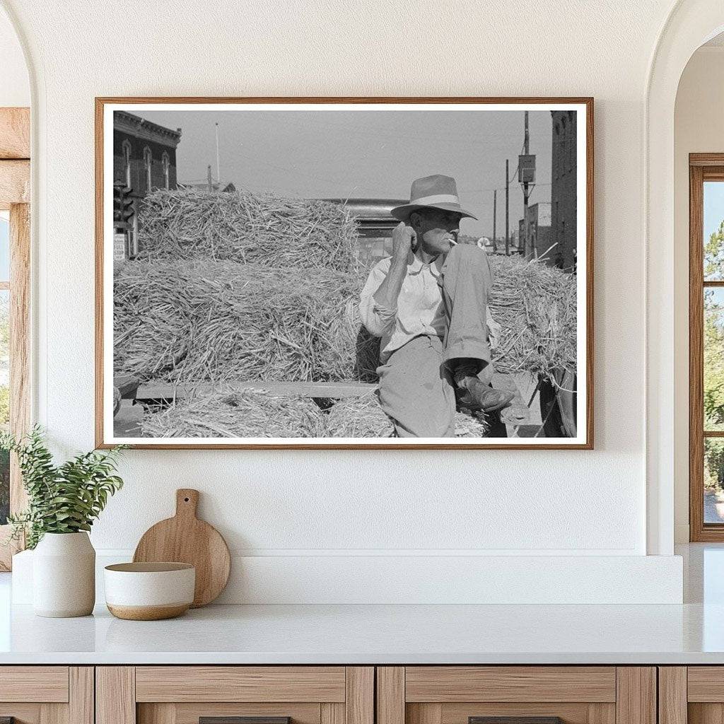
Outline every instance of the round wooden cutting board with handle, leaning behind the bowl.
{"label": "round wooden cutting board with handle, leaning behind the bowl", "polygon": [[176,491],[176,515],[151,526],[136,546],[135,563],[162,560],[191,563],[196,568],[193,608],[211,603],[224,590],[231,557],[222,534],[196,517],[198,490]]}

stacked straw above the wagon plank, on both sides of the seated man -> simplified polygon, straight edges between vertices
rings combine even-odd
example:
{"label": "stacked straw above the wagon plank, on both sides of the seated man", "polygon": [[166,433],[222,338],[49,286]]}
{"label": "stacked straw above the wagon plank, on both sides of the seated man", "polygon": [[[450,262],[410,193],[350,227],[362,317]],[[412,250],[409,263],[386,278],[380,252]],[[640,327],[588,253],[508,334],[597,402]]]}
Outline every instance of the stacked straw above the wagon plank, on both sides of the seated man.
{"label": "stacked straw above the wagon plank, on both sides of the seated man", "polygon": [[[114,275],[114,371],[141,380],[373,382],[366,271],[345,206],[248,191],[156,190],[140,258]],[[576,369],[576,277],[492,256],[497,371]]]}

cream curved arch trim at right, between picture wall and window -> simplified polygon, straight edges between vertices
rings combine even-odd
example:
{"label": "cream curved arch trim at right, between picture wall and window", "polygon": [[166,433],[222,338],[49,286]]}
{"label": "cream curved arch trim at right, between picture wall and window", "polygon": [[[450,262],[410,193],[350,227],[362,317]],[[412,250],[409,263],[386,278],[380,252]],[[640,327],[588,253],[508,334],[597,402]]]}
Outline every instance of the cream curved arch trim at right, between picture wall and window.
{"label": "cream curved arch trim at right, between picture wall and window", "polygon": [[[678,0],[654,49],[644,96],[644,239],[647,268],[647,552],[674,542],[674,108],[686,64],[724,30],[721,0]],[[679,381],[680,382],[680,381]]]}

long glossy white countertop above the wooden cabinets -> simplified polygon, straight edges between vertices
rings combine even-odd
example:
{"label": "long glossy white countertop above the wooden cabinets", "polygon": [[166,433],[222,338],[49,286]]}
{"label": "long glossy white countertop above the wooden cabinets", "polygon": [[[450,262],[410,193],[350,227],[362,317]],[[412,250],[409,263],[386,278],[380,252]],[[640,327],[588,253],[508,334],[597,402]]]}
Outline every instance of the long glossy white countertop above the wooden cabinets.
{"label": "long glossy white countertop above the wooden cabinets", "polygon": [[148,622],[17,606],[5,620],[0,664],[724,664],[724,605],[210,606]]}

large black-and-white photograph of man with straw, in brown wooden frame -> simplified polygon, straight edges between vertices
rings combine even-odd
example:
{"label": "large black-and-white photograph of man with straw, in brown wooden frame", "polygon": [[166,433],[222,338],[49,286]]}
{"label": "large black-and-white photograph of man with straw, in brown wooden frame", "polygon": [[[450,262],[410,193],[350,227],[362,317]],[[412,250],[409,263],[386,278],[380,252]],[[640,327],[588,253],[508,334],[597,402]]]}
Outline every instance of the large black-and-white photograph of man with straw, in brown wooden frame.
{"label": "large black-and-white photograph of man with straw, in brown wooden frame", "polygon": [[96,98],[96,443],[593,447],[592,98]]}

